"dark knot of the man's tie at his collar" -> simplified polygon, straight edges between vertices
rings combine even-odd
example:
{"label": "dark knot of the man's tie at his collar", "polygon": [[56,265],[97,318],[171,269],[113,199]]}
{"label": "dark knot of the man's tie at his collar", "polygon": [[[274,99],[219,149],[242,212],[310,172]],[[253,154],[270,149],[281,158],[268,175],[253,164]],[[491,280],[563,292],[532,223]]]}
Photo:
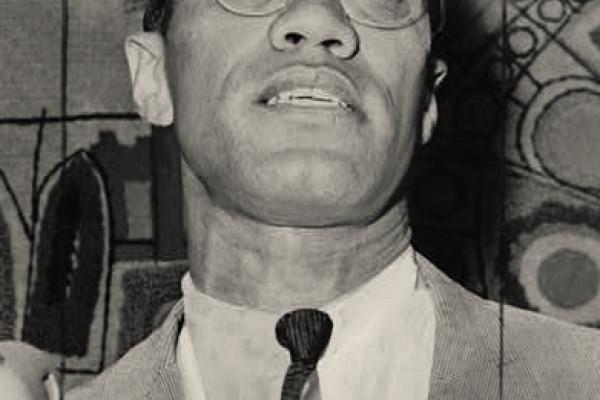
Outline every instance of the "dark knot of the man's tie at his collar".
{"label": "dark knot of the man's tie at his collar", "polygon": [[325,351],[333,322],[319,310],[300,309],[291,311],[279,318],[275,335],[280,345],[289,350],[292,362],[314,362]]}

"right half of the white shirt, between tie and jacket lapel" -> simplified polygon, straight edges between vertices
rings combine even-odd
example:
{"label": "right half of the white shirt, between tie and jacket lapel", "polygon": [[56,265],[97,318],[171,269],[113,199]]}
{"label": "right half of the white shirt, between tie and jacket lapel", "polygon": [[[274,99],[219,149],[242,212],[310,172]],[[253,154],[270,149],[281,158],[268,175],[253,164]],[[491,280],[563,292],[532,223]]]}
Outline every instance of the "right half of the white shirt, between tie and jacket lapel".
{"label": "right half of the white shirt, between tie and jacket lapel", "polygon": [[317,365],[322,398],[427,398],[435,309],[414,256],[407,248],[357,291],[325,308],[334,330]]}

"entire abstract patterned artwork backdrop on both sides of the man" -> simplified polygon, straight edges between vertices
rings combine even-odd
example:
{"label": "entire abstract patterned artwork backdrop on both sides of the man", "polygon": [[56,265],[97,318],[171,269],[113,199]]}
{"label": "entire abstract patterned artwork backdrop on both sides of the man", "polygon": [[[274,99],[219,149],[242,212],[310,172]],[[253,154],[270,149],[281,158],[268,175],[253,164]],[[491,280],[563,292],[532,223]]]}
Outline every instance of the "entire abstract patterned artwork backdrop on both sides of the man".
{"label": "entire abstract patterned artwork backdrop on both sides of the man", "polygon": [[[160,324],[185,273],[172,128],[140,121],[139,1],[0,2],[0,340],[71,386]],[[447,0],[415,247],[470,290],[600,327],[600,0]]]}

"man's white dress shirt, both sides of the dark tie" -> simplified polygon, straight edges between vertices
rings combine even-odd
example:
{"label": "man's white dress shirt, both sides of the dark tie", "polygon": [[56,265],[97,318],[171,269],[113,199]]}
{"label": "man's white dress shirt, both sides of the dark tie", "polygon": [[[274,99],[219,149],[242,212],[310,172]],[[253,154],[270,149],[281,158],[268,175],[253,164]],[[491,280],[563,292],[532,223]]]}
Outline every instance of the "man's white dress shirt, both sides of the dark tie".
{"label": "man's white dress shirt, both sides of the dark tie", "polygon": [[[317,364],[322,400],[427,399],[435,316],[418,282],[409,246],[370,281],[321,308],[333,321]],[[280,400],[290,362],[275,339],[281,316],[209,297],[189,274],[182,289],[178,365],[186,400]]]}

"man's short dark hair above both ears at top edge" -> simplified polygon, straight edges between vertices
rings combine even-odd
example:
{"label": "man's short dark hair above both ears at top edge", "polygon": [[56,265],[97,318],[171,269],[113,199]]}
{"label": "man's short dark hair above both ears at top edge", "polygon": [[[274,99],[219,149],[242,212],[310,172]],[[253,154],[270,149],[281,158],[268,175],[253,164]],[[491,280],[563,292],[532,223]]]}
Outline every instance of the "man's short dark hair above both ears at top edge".
{"label": "man's short dark hair above both ears at top edge", "polygon": [[[144,11],[144,31],[160,32],[163,35],[169,30],[169,22],[173,14],[173,3],[177,0],[146,0]],[[427,0],[429,18],[434,34],[441,30],[444,20],[444,0]]]}

